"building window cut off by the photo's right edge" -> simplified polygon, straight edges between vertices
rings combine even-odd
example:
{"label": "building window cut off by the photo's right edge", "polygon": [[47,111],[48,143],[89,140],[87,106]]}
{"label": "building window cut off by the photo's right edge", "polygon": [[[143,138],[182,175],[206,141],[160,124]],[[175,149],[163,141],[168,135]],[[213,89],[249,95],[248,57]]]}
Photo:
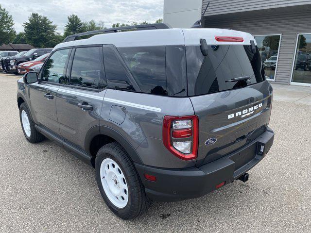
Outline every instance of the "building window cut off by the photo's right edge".
{"label": "building window cut off by the photo's right edge", "polygon": [[311,84],[311,34],[298,34],[292,82]]}

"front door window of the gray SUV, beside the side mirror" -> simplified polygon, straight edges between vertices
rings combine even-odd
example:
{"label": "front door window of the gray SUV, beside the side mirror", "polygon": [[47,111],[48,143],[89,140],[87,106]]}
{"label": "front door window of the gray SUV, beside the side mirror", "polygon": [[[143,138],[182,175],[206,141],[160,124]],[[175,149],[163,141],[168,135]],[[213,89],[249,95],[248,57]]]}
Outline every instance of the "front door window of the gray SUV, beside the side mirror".
{"label": "front door window of the gray SUV, beside the side mirror", "polygon": [[42,73],[42,81],[51,83],[67,83],[64,69],[69,56],[69,49],[55,51],[49,60],[45,63]]}

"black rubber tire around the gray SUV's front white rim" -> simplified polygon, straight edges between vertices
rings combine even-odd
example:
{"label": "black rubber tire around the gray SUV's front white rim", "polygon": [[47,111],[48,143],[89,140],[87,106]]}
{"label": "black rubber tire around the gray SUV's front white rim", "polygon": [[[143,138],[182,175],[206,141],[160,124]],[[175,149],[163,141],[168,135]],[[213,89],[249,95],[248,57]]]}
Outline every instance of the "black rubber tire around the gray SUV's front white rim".
{"label": "black rubber tire around the gray SUV's front white rim", "polygon": [[[30,136],[27,136],[27,134],[25,133],[24,127],[23,127],[23,122],[22,122],[22,117],[21,117],[23,111],[25,111],[28,116],[29,125],[30,125]],[[29,113],[26,103],[22,103],[19,107],[19,120],[20,120],[20,125],[23,130],[23,133],[29,142],[36,143],[36,142],[41,142],[45,139],[45,137],[35,129],[35,123],[33,119],[31,118],[31,115]]]}

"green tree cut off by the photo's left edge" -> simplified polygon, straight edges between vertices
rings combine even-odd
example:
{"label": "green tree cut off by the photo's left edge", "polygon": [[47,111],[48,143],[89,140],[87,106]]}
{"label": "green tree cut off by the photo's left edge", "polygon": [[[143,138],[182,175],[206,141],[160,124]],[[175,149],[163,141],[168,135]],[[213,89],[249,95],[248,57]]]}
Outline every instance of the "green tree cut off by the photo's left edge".
{"label": "green tree cut off by the photo's left edge", "polygon": [[13,42],[16,35],[13,26],[12,16],[0,5],[0,45]]}

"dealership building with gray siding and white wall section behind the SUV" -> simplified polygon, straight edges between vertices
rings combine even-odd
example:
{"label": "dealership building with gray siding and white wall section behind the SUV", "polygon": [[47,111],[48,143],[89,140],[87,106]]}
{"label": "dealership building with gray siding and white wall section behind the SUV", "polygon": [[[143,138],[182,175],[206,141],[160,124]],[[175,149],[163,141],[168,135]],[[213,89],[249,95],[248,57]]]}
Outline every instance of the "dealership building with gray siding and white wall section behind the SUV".
{"label": "dealership building with gray siding and white wall section behind the SUV", "polygon": [[266,76],[272,82],[311,86],[311,1],[164,0],[164,22],[225,28],[254,35]]}

